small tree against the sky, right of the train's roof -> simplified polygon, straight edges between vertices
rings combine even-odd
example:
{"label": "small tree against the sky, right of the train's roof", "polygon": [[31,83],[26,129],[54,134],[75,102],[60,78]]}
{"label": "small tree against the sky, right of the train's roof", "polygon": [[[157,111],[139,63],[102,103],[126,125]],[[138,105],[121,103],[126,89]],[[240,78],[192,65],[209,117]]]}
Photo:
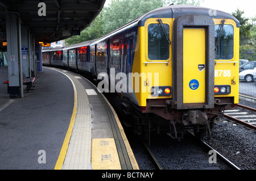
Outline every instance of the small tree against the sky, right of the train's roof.
{"label": "small tree against the sky, right of the train's roof", "polygon": [[253,24],[248,22],[249,18],[243,18],[242,14],[245,11],[236,10],[236,12],[232,12],[232,16],[234,16],[240,22],[240,36],[250,36],[251,28],[253,28]]}

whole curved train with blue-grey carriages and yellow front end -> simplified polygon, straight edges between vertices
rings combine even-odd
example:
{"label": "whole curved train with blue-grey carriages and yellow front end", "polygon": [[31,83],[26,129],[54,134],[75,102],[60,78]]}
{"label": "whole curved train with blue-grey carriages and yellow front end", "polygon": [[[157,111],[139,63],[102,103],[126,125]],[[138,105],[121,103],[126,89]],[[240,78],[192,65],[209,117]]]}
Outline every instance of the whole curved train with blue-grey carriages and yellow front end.
{"label": "whole curved train with blue-grey carriages and yellow front end", "polygon": [[125,125],[147,139],[209,139],[238,103],[240,22],[191,5],[150,11],[100,39],[42,50],[43,65],[97,77],[121,95]]}

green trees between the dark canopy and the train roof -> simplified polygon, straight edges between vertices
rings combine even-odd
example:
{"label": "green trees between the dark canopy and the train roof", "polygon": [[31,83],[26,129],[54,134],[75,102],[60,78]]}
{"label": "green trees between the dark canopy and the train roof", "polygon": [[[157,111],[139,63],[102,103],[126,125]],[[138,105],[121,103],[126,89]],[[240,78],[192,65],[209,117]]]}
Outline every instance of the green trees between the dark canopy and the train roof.
{"label": "green trees between the dark canopy and the train roof", "polygon": [[80,36],[72,36],[65,40],[68,45],[97,39],[109,32],[129,23],[139,16],[159,7],[175,3],[177,5],[200,5],[203,0],[112,0],[104,6],[100,14]]}

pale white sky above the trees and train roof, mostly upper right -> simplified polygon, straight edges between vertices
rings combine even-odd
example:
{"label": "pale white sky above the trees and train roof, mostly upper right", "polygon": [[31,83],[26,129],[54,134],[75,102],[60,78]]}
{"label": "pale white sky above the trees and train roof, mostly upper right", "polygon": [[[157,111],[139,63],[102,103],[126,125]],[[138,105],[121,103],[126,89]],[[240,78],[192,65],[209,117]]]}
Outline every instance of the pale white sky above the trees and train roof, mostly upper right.
{"label": "pale white sky above the trees and train roof, mostly upper right", "polygon": [[[150,1],[150,0],[148,0]],[[106,4],[110,3],[111,0],[106,0]],[[241,11],[245,11],[243,17],[253,18],[256,16],[255,0],[204,0],[200,4],[202,7],[208,7],[210,9],[220,10],[228,13],[235,12],[237,8]]]}

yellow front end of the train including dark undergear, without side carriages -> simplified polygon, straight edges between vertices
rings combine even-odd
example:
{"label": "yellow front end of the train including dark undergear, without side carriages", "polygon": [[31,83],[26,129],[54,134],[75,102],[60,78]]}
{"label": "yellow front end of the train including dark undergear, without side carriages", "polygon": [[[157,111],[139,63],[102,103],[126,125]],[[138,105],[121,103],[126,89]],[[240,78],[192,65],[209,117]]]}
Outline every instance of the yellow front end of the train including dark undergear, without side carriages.
{"label": "yellow front end of the train including dark undergear, without side carriages", "polygon": [[168,129],[181,138],[192,129],[210,138],[214,121],[238,103],[239,27],[232,15],[197,6],[167,6],[139,19],[129,81],[144,116],[130,123],[135,132]]}

